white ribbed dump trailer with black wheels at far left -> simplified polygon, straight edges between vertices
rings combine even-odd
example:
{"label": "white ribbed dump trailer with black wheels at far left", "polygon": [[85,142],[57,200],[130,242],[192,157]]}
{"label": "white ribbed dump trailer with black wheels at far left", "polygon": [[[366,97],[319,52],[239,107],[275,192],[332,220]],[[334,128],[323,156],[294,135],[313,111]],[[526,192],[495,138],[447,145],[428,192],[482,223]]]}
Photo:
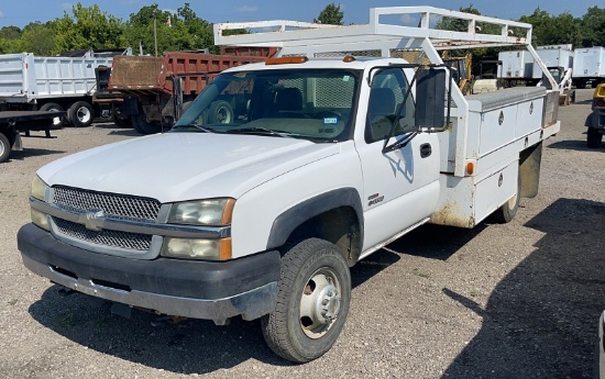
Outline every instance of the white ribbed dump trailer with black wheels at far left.
{"label": "white ribbed dump trailer with black wheels at far left", "polygon": [[[10,110],[66,112],[74,126],[92,123],[95,68],[111,66],[112,57],[46,57],[33,53],[0,55],[0,102]],[[56,125],[61,124],[56,118]]]}

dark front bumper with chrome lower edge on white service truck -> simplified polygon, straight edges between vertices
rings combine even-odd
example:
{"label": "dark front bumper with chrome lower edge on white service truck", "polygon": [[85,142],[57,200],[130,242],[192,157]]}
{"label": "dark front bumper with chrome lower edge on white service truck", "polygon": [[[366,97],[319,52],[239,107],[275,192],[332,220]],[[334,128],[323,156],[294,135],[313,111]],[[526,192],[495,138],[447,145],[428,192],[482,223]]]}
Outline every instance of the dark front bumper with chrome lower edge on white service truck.
{"label": "dark front bumper with chrome lower edge on white service truck", "polygon": [[53,282],[97,298],[194,319],[254,320],[277,299],[277,250],[229,261],[129,259],[55,239],[33,224],[19,230],[23,264]]}

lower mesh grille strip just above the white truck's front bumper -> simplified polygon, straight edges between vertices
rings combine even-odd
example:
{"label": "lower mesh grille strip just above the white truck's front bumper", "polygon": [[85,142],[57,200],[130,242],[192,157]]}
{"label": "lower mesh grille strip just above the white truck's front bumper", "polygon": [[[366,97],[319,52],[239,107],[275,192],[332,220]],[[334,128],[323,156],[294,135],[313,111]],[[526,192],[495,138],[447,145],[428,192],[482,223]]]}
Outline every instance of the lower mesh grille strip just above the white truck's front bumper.
{"label": "lower mesh grille strip just above the white truck's front bumper", "polygon": [[72,238],[86,241],[88,243],[128,248],[134,250],[148,250],[152,236],[147,234],[127,233],[103,230],[100,232],[89,231],[84,225],[53,218],[58,231]]}

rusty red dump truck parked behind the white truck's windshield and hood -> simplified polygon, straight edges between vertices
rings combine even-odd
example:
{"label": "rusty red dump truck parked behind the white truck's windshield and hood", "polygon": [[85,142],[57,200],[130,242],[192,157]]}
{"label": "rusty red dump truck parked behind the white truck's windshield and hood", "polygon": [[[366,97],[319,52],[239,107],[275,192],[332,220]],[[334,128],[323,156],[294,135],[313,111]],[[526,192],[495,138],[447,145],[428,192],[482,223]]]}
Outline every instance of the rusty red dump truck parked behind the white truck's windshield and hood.
{"label": "rusty red dump truck parked behind the white truck's windshield and hood", "polygon": [[[141,134],[158,133],[170,129],[219,73],[265,60],[274,53],[275,48],[270,47],[233,47],[222,49],[220,55],[168,52],[161,57],[116,57],[111,68],[97,69],[94,101],[120,126],[133,126]],[[229,116],[234,105],[216,111]]]}

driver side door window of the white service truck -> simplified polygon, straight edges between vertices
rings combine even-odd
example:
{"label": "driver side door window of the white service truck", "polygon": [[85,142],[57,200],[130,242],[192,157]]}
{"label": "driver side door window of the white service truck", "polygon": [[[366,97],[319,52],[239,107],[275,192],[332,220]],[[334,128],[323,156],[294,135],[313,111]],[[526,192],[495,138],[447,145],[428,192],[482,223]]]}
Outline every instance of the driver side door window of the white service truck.
{"label": "driver side door window of the white service truck", "polygon": [[414,122],[414,100],[406,98],[408,82],[400,68],[387,68],[377,73],[370,91],[365,141],[383,141],[395,124],[394,136],[406,134]]}

